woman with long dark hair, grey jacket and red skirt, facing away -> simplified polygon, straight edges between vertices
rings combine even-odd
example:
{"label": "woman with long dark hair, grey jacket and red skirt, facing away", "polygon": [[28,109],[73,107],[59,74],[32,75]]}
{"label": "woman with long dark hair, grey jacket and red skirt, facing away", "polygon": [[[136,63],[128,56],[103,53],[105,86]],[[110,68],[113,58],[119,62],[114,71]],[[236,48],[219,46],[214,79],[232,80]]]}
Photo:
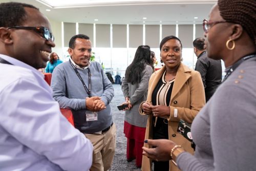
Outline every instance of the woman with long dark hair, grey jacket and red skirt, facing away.
{"label": "woman with long dark hair, grey jacket and red skirt, facing away", "polygon": [[146,130],[146,116],[139,114],[139,105],[146,100],[148,80],[153,73],[149,46],[139,46],[130,66],[125,71],[122,92],[128,107],[125,108],[124,134],[127,138],[126,158],[136,158],[136,166],[141,167],[142,146]]}

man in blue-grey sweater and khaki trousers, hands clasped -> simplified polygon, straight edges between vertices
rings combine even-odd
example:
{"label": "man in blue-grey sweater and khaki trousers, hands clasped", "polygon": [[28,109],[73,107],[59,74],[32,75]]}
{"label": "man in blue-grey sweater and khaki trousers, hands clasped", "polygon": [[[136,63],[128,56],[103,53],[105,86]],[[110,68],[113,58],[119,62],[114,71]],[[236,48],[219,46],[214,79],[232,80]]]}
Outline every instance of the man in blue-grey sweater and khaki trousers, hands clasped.
{"label": "man in blue-grey sweater and khaki trousers, hands clasped", "polygon": [[53,98],[60,108],[72,109],[75,127],[91,140],[94,154],[90,170],[108,170],[116,146],[116,127],[109,105],[114,88],[100,63],[90,61],[92,45],[88,36],[73,36],[68,52],[70,60],[52,73]]}

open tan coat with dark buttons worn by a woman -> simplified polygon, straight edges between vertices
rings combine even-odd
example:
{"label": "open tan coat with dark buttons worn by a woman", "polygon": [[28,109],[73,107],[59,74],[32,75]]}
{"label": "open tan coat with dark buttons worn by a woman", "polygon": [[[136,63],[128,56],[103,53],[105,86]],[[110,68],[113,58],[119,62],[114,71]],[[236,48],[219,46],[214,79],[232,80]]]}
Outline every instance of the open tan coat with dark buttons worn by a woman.
{"label": "open tan coat with dark buttons worn by a woman", "polygon": [[[154,72],[150,78],[148,84],[148,94],[147,102],[152,101],[152,92],[154,91],[159,79],[161,78],[163,72],[166,70],[165,66],[160,70]],[[143,102],[142,102],[143,103]],[[142,104],[141,103],[141,104]],[[168,136],[169,140],[174,141],[178,145],[181,145],[185,151],[193,154],[193,148],[191,148],[191,143],[183,138],[177,132],[177,127],[180,119],[185,120],[188,123],[191,123],[198,112],[205,105],[205,94],[204,86],[200,73],[194,70],[190,70],[187,66],[183,65],[182,62],[178,68],[172,96],[170,98],[170,117],[168,118]],[[174,117],[174,110],[178,110],[178,117]],[[139,108],[140,114],[142,114],[141,105]],[[148,115],[146,134],[145,139],[152,139],[152,126],[153,126],[153,115]],[[145,147],[148,147],[144,143]],[[151,170],[152,161],[146,156],[142,158],[142,167],[143,171]],[[179,170],[172,161],[169,162],[169,170]]]}

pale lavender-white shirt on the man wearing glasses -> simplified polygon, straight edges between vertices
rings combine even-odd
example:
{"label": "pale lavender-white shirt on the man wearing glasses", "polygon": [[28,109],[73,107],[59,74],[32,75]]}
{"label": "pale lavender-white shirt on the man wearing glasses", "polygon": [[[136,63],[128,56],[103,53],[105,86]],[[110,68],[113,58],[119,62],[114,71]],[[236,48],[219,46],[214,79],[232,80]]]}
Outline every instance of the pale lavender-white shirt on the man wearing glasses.
{"label": "pale lavender-white shirt on the man wearing glasses", "polygon": [[0,170],[89,170],[91,142],[62,116],[44,75],[0,57]]}

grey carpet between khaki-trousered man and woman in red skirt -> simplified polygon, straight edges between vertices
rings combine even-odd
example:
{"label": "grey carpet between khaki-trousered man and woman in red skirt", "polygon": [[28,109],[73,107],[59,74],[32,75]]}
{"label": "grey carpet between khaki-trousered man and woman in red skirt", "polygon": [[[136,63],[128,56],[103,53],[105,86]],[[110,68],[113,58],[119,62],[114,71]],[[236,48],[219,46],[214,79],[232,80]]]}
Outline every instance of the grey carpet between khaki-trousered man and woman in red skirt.
{"label": "grey carpet between khaki-trousered man and woman in red skirt", "polygon": [[116,138],[116,153],[113,164],[110,170],[140,170],[135,165],[135,160],[131,162],[126,161],[126,138],[123,134],[123,120],[124,112],[118,111],[117,105],[124,102],[121,86],[119,84],[113,84],[115,89],[115,97],[112,99],[110,105],[113,112],[113,119],[117,127]]}

